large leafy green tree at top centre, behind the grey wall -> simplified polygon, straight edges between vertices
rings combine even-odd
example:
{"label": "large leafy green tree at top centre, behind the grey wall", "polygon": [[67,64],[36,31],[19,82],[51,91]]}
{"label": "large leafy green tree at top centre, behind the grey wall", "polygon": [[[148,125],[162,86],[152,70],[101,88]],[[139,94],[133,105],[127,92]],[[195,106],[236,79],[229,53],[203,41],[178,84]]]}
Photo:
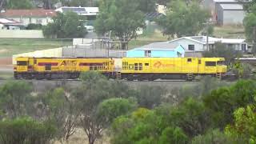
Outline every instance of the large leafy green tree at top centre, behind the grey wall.
{"label": "large leafy green tree at top centre, behind the grey wall", "polygon": [[138,10],[137,0],[102,0],[95,22],[98,34],[110,31],[122,42],[129,42],[138,35],[138,28],[145,26],[144,14]]}

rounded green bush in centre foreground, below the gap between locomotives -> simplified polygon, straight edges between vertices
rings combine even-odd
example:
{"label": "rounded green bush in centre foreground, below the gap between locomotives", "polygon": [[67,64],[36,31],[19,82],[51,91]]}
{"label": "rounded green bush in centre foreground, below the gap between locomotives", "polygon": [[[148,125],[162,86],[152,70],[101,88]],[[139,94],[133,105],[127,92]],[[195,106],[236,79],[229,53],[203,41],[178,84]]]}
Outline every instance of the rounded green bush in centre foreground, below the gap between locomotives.
{"label": "rounded green bush in centre foreground, below the gap between locomotives", "polygon": [[114,118],[129,114],[136,106],[136,102],[131,99],[110,98],[99,104],[97,114],[105,122],[106,126],[110,126]]}

